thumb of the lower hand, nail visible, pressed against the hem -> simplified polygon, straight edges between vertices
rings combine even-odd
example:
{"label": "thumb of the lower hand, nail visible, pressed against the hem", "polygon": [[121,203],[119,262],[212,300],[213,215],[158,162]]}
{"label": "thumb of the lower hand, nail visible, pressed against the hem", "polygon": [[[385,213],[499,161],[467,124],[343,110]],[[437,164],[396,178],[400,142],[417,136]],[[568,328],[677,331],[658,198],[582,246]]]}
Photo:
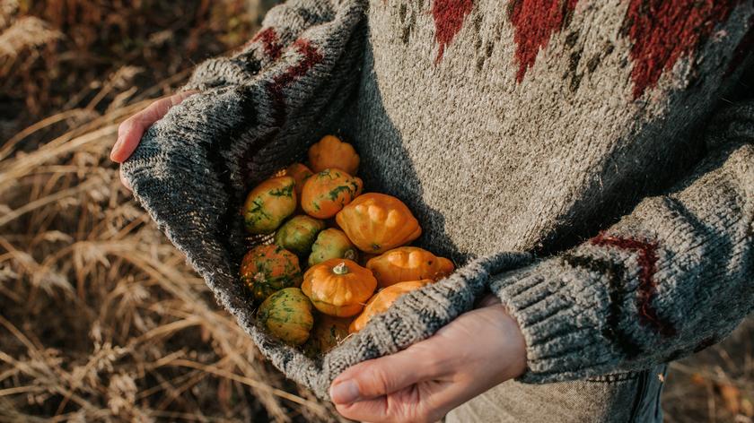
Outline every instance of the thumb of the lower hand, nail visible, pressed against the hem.
{"label": "thumb of the lower hand, nail visible, pressed against the hem", "polygon": [[390,356],[348,367],[330,384],[330,398],[336,404],[364,401],[394,393],[430,379],[434,368],[427,366],[424,350],[409,348]]}

